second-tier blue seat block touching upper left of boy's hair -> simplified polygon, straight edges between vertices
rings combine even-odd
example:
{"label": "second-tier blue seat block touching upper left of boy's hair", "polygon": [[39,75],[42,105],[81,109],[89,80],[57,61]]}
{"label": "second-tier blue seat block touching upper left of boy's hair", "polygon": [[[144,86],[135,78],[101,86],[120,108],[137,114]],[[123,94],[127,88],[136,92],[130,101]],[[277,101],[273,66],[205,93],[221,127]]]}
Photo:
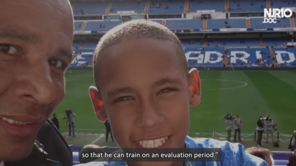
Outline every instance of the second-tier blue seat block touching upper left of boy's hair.
{"label": "second-tier blue seat block touching upper left of boy's hair", "polygon": [[121,21],[88,21],[85,30],[108,31],[119,24]]}

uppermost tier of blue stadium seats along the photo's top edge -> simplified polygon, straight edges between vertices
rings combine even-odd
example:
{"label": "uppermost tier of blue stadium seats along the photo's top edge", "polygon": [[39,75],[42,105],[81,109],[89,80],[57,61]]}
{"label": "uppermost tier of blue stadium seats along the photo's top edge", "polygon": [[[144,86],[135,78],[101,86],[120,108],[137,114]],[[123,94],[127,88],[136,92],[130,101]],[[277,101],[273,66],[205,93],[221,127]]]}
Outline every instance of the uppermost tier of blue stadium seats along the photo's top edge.
{"label": "uppermost tier of blue stadium seats along the photo's top edge", "polygon": [[[147,14],[173,14],[215,10],[229,12],[263,12],[264,8],[296,7],[283,0],[124,0],[71,2],[74,15],[112,14],[122,11]],[[145,9],[147,11],[145,12]]]}

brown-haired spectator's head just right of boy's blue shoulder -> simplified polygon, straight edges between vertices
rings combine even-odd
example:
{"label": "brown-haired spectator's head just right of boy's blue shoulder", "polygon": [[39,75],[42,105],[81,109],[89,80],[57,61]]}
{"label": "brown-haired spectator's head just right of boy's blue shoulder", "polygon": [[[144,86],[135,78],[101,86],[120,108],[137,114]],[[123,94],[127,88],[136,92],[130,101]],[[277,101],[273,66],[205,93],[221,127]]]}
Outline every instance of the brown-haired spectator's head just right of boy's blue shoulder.
{"label": "brown-haired spectator's head just right of boy's blue shoulder", "polygon": [[246,152],[265,160],[268,166],[274,166],[274,158],[272,157],[271,151],[269,149],[250,147],[246,149]]}

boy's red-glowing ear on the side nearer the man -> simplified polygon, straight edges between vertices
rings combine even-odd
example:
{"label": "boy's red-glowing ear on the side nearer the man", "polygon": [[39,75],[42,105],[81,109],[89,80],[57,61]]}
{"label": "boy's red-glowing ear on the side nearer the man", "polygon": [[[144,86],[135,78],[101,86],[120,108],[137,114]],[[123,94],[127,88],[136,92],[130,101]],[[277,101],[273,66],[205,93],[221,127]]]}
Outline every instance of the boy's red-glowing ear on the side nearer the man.
{"label": "boy's red-glowing ear on the side nearer the man", "polygon": [[103,101],[100,97],[100,93],[98,89],[94,86],[89,87],[89,95],[91,96],[91,101],[94,105],[94,113],[96,114],[96,117],[100,121],[106,121],[107,120],[107,113],[103,107]]}

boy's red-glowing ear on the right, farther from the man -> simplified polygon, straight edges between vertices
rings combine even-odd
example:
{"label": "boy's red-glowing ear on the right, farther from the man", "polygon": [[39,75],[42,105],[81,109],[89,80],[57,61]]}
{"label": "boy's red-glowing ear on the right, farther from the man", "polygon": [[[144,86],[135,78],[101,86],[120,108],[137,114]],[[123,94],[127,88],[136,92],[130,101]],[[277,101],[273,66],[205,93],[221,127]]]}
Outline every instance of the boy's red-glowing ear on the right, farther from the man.
{"label": "boy's red-glowing ear on the right, farther from the man", "polygon": [[188,73],[188,86],[190,92],[190,105],[197,106],[201,99],[200,76],[197,69],[193,68]]}

